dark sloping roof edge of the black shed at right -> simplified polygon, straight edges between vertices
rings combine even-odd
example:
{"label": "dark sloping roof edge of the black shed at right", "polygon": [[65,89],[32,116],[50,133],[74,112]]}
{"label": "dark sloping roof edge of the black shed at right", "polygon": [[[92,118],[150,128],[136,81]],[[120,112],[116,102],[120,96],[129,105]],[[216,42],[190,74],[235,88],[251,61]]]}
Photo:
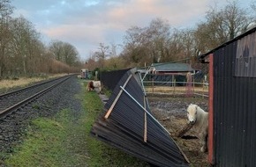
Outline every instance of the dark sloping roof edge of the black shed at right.
{"label": "dark sloping roof edge of the black shed at right", "polygon": [[225,47],[225,46],[229,45],[230,43],[232,43],[232,42],[234,42],[234,41],[236,41],[236,40],[240,40],[240,39],[244,38],[246,35],[251,34],[251,33],[254,33],[255,31],[256,31],[256,26],[253,27],[251,30],[248,30],[247,32],[242,33],[241,35],[238,35],[236,38],[234,38],[234,39],[232,39],[232,40],[229,40],[229,41],[223,43],[223,44],[220,45],[219,47],[215,47],[214,49],[210,50],[210,51],[207,52],[206,54],[200,54],[200,55],[199,55],[199,60],[200,60],[200,62],[202,62],[202,63],[208,63],[208,62],[205,62],[205,59],[206,59],[207,55],[212,54],[212,53],[215,52],[215,50],[218,50],[218,49],[220,49],[220,48],[222,48],[222,47]]}

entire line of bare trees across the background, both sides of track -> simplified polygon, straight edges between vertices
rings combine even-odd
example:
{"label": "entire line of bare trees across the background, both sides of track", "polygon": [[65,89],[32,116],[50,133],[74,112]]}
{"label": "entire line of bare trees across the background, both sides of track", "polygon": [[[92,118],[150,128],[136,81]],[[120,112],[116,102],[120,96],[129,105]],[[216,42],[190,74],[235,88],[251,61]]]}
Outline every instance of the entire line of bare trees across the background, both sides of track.
{"label": "entire line of bare trees across the background, both sides of track", "polygon": [[154,62],[184,62],[198,66],[198,56],[255,26],[255,3],[243,8],[237,1],[210,7],[204,20],[192,28],[175,28],[154,18],[149,25],[131,26],[122,44],[100,43],[83,62],[76,47],[61,40],[48,46],[26,18],[11,18],[11,0],[0,1],[0,78],[41,73],[116,70],[144,67]]}

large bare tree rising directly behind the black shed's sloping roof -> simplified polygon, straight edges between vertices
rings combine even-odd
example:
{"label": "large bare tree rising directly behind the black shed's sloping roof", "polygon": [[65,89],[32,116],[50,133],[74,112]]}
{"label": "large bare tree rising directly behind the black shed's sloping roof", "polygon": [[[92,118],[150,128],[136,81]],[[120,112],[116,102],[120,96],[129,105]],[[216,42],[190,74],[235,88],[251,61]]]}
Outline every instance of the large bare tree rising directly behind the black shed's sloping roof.
{"label": "large bare tree rising directly behind the black shed's sloping roof", "polygon": [[207,21],[198,25],[195,31],[196,45],[205,53],[222,43],[245,33],[255,23],[251,13],[240,8],[236,1],[231,2],[220,11],[207,11]]}

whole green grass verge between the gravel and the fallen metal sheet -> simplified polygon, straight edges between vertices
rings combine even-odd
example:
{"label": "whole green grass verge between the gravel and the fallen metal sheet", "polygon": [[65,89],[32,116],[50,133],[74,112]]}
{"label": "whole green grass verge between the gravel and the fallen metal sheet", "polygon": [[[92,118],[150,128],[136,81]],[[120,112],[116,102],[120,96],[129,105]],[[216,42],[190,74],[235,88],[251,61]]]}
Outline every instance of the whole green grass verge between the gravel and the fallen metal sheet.
{"label": "whole green grass verge between the gravel and the fallen metal sheet", "polygon": [[91,127],[103,108],[96,92],[87,92],[84,86],[75,98],[83,104],[79,116],[64,109],[54,118],[33,120],[22,144],[14,148],[14,153],[4,160],[4,164],[11,167],[149,166],[90,135]]}

